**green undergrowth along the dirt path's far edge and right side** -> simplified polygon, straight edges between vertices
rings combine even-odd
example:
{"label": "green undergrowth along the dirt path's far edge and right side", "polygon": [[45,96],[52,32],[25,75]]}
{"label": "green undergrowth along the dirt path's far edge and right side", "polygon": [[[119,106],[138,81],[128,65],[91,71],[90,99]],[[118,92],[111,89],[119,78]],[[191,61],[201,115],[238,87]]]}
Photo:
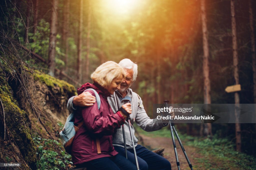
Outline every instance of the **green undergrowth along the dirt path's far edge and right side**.
{"label": "green undergrowth along the dirt path's far edge and right side", "polygon": [[[146,132],[137,125],[134,127],[138,133],[146,136],[153,138],[167,137],[171,139],[171,132],[167,128],[154,132]],[[183,135],[179,133],[178,129],[176,130],[184,148],[196,148],[196,152],[201,155],[200,157],[193,157],[195,162],[191,162],[191,164],[195,169],[256,169],[256,158],[245,153],[235,151],[234,143],[227,138],[219,138],[217,134],[211,139],[193,137]],[[173,147],[171,140],[170,144],[170,147]],[[177,140],[176,146],[180,147]]]}

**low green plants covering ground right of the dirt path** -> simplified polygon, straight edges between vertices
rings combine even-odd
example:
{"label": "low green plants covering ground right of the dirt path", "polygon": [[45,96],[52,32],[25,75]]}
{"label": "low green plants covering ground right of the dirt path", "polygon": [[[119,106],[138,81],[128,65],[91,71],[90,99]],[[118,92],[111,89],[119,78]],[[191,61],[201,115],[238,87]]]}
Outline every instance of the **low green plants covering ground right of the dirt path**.
{"label": "low green plants covering ground right of the dirt path", "polygon": [[[186,137],[183,137],[186,138]],[[256,158],[244,153],[235,151],[235,145],[227,138],[219,138],[214,135],[212,139],[194,138],[193,141],[187,143],[190,146],[196,147],[199,153],[211,157],[205,165],[206,169],[213,168],[210,162],[220,163],[221,167],[215,169],[255,169]],[[198,159],[199,160],[199,159]],[[232,162],[232,164],[231,164]]]}

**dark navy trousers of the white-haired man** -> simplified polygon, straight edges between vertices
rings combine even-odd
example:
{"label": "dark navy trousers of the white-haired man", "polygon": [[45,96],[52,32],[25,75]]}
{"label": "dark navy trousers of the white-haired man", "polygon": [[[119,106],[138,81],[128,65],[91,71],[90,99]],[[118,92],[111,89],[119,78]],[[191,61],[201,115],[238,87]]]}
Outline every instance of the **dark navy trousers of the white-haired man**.
{"label": "dark navy trousers of the white-haired man", "polygon": [[[125,157],[125,152],[123,147],[114,146],[114,148],[119,154]],[[170,162],[164,157],[148,150],[142,145],[137,145],[135,149],[136,149],[138,164],[141,170],[156,170],[156,169],[170,170],[171,169]],[[130,160],[131,162],[134,163],[134,165],[136,165],[133,149],[127,149],[127,157],[128,157],[128,160]]]}

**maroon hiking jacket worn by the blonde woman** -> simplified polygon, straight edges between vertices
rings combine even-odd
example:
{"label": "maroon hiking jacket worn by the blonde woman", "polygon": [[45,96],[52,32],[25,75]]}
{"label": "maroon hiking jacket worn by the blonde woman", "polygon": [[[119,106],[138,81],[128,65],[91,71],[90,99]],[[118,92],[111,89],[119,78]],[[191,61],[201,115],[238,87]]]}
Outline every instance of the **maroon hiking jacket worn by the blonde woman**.
{"label": "maroon hiking jacket worn by the blonde woman", "polygon": [[[110,93],[99,84],[83,84],[77,89],[77,93],[81,94],[89,88],[99,93],[101,105],[100,109],[98,109],[97,102],[93,106],[77,108],[74,124],[78,125],[81,121],[84,123],[73,140],[72,161],[74,165],[118,154],[112,145],[112,135],[115,129],[120,128],[125,121],[120,112],[114,114],[107,100]],[[88,92],[95,96],[93,91],[88,90]],[[100,143],[100,154],[97,153],[96,139]]]}

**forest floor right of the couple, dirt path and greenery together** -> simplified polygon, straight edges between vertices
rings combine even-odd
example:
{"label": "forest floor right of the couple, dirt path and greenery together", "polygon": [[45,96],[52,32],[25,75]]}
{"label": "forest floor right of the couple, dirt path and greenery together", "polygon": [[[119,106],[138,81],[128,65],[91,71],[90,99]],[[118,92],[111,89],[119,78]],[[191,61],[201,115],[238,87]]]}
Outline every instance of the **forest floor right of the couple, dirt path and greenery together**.
{"label": "forest floor right of the couple, dirt path and greenery together", "polygon": [[[172,169],[177,169],[171,133],[168,129],[155,132],[145,132],[136,126],[140,144],[150,150],[164,148],[164,157],[170,161]],[[195,138],[179,134],[190,163],[194,170],[210,169],[256,169],[256,158],[244,153],[236,152],[233,145],[225,139]],[[175,137],[180,169],[190,169],[184,153]]]}

